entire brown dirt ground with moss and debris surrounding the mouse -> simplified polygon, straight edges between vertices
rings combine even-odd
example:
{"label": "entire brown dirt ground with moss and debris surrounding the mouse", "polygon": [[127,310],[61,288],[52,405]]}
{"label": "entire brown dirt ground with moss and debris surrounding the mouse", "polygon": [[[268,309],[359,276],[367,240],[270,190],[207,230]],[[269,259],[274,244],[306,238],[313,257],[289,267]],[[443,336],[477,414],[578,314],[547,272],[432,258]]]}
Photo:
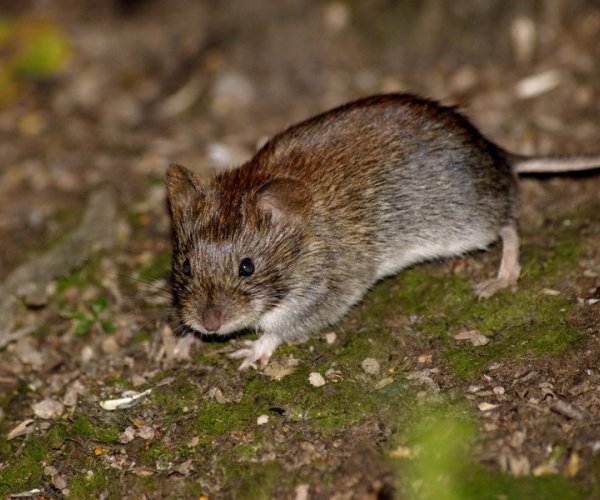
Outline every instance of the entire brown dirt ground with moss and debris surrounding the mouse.
{"label": "entire brown dirt ground with moss and debris surrounding the mouse", "polygon": [[599,58],[583,0],[0,1],[0,496],[599,498],[599,173],[522,179],[517,291],[417,266],[246,372],[173,335],[163,183],[395,91],[600,152]]}

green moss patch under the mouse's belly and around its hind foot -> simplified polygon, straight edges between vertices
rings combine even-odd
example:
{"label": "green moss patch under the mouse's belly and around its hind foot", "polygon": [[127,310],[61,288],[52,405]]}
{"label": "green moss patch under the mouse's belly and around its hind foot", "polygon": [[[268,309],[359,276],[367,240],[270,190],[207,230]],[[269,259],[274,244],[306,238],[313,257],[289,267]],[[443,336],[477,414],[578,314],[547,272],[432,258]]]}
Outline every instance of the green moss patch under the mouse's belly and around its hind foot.
{"label": "green moss patch under the mouse's belly and around its hind foot", "polygon": [[[503,290],[491,299],[478,300],[466,277],[442,273],[434,265],[417,266],[376,287],[360,321],[382,329],[390,328],[395,318],[406,321],[412,316],[411,328],[424,338],[434,338],[461,377],[506,358],[559,356],[580,340],[567,321],[574,301],[541,290],[560,287],[575,272],[582,244],[575,224],[558,221],[548,232],[547,246],[524,248],[524,269],[515,293]],[[491,342],[473,347],[454,340],[463,330],[478,330]]]}

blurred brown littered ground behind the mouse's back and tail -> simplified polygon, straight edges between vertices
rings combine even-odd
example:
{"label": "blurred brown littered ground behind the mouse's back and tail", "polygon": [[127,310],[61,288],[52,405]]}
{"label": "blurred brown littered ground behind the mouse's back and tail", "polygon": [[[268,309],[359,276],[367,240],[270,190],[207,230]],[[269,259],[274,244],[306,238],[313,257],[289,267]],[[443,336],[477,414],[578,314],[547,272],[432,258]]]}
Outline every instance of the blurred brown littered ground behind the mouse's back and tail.
{"label": "blurred brown littered ground behind the mouse's back and tail", "polygon": [[458,104],[522,153],[600,143],[595,1],[2,0],[0,16],[0,276],[94,186],[140,201],[170,161],[236,165],[372,93]]}

